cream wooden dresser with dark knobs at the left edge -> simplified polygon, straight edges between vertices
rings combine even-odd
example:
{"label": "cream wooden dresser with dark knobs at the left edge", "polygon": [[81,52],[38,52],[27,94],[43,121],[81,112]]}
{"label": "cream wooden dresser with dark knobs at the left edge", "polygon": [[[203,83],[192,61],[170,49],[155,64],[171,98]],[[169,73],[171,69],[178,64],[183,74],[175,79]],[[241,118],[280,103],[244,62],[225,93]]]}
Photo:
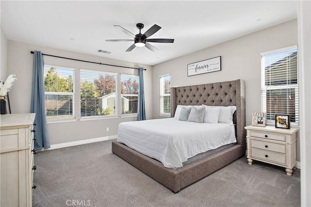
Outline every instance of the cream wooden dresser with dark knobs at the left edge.
{"label": "cream wooden dresser with dark knobs at the left edge", "polygon": [[0,115],[1,207],[31,207],[35,113]]}

